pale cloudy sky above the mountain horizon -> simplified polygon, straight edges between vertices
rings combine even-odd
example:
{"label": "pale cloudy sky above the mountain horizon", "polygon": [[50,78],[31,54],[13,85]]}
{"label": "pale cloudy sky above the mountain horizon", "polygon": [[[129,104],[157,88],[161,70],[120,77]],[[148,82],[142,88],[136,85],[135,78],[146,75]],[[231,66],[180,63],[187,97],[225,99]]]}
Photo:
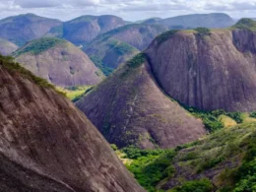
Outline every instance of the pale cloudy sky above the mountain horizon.
{"label": "pale cloudy sky above the mountain horizon", "polygon": [[223,12],[256,18],[256,0],[0,0],[0,19],[34,13],[62,21],[81,15],[116,15],[128,21]]}

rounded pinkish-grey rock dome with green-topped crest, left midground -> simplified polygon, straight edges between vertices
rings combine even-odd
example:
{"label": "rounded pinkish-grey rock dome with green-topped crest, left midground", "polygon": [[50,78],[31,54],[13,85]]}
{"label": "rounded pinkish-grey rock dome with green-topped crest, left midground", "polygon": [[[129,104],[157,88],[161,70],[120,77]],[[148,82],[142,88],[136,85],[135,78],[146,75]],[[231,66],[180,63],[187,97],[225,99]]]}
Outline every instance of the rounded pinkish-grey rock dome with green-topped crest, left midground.
{"label": "rounded pinkish-grey rock dome with green-topped crest, left midground", "polygon": [[61,87],[96,85],[103,78],[86,53],[60,38],[32,40],[14,56],[36,76]]}

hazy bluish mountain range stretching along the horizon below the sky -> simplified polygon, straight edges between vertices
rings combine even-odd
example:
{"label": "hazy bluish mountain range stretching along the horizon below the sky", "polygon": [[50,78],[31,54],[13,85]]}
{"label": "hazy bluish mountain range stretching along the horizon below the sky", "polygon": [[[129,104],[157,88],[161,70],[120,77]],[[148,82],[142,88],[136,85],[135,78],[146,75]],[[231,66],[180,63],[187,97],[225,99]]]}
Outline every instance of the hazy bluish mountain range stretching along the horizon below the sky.
{"label": "hazy bluish mountain range stretching along the horizon below the sky", "polygon": [[[68,22],[25,14],[0,21],[0,38],[23,46],[33,39],[43,36],[66,39],[80,46],[105,75],[120,64],[148,47],[161,32],[169,29],[226,28],[233,20],[225,14],[196,14],[160,19],[150,18],[134,24],[111,15],[81,16]],[[10,54],[17,47],[0,41]],[[3,46],[2,46],[3,47]],[[9,48],[8,48],[9,47]]]}

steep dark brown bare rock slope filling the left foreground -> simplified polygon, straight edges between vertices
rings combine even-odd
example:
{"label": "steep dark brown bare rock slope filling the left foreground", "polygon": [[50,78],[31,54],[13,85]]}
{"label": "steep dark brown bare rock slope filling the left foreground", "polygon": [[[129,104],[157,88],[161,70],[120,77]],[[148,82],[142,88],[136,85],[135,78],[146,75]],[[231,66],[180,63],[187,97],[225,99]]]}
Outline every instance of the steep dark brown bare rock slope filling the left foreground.
{"label": "steep dark brown bare rock slope filling the left foreground", "polygon": [[73,103],[35,85],[40,81],[17,65],[0,63],[0,189],[144,191]]}

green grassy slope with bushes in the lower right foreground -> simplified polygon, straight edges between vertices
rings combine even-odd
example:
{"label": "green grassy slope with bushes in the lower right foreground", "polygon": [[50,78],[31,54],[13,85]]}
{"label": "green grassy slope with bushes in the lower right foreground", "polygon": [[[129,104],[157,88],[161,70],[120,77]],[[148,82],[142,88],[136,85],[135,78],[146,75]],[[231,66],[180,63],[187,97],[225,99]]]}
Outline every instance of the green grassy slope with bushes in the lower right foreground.
{"label": "green grassy slope with bushes in the lower right foreground", "polygon": [[122,153],[126,154],[123,158],[132,159],[128,169],[151,192],[193,191],[195,184],[202,192],[211,191],[213,186],[225,192],[252,191],[256,179],[255,137],[256,123],[244,123],[174,150],[131,148]]}

